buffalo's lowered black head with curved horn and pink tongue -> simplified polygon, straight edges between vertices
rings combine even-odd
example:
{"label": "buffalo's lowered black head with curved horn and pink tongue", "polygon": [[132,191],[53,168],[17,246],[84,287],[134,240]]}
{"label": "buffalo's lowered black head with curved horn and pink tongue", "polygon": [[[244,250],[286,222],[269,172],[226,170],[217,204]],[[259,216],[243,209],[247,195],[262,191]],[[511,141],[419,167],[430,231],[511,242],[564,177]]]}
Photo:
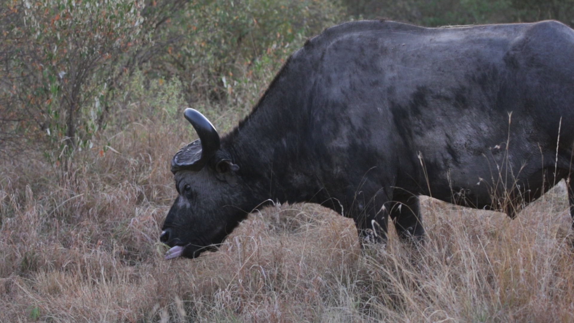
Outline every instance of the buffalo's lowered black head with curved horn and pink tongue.
{"label": "buffalo's lowered black head with curved horn and pink tongue", "polygon": [[242,184],[237,174],[239,166],[220,147],[214,126],[196,110],[186,109],[184,116],[199,139],[172,158],[171,171],[179,196],[169,209],[160,236],[171,247],[166,259],[193,258],[205,250],[215,250],[247,216],[237,207]]}

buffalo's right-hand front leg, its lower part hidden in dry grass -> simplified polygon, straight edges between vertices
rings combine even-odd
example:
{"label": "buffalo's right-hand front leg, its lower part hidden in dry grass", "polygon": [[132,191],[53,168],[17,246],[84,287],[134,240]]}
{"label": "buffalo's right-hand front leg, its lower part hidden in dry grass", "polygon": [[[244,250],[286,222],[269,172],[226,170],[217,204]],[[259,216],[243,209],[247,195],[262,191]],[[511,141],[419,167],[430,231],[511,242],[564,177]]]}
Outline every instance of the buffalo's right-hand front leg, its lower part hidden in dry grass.
{"label": "buffalo's right-hand front leg, its lower part hidden in dry grass", "polygon": [[397,194],[389,203],[390,218],[403,241],[421,242],[425,229],[422,226],[421,205],[417,195]]}

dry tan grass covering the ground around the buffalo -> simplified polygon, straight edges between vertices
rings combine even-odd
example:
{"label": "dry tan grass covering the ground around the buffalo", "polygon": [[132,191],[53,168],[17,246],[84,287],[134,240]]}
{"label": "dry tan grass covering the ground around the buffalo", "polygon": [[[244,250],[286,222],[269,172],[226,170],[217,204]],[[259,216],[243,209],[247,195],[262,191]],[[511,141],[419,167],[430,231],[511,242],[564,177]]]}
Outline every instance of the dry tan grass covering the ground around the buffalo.
{"label": "dry tan grass covering the ground around the buffalo", "polygon": [[3,164],[0,322],[574,321],[563,183],[516,220],[424,199],[420,249],[391,232],[362,255],[351,220],[284,205],[218,252],[165,261],[168,161],[189,133],[138,122],[66,173]]}

